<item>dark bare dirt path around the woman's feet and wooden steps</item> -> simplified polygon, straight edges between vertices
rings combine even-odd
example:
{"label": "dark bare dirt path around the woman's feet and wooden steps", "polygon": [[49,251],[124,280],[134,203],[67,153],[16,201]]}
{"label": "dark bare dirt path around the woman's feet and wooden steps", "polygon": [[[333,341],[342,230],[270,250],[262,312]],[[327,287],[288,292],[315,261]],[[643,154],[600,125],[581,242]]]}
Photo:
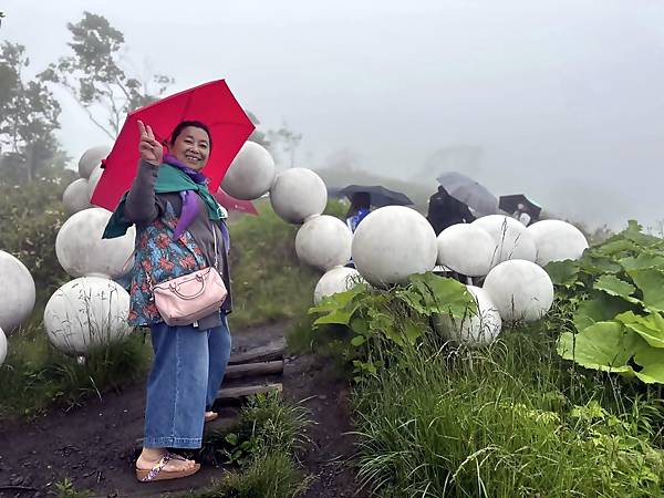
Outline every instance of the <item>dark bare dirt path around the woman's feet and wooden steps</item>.
{"label": "dark bare dirt path around the woman's feet and wooden steps", "polygon": [[[283,335],[271,325],[234,334],[234,351],[263,345]],[[343,466],[352,455],[345,386],[320,369],[312,356],[287,359],[284,395],[304,403],[317,422],[310,429],[313,446],[303,466],[317,476],[308,497],[352,496],[354,480]],[[143,433],[144,383],[91,398],[70,412],[53,411],[30,424],[0,427],[0,497],[52,496],[54,484],[70,478],[76,489],[96,496],[159,496],[207,486],[226,471],[205,466],[187,479],[139,485],[133,471],[134,440]]]}

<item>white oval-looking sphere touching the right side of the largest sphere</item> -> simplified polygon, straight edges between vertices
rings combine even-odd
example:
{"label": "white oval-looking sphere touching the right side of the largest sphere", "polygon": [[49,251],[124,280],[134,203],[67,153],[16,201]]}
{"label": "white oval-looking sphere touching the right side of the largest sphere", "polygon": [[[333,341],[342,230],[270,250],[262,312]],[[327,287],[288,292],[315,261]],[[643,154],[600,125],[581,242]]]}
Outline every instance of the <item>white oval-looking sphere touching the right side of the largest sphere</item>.
{"label": "white oval-looking sphere touching the right side of the largest sphere", "polygon": [[494,238],[474,225],[453,225],[438,235],[438,263],[468,277],[487,274],[497,249]]}

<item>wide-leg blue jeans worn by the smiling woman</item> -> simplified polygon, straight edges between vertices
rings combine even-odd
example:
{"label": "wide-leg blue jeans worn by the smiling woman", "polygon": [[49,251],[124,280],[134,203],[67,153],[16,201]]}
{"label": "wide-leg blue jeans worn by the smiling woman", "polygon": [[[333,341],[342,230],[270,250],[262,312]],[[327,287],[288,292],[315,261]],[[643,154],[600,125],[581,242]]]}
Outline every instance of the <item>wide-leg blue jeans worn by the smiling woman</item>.
{"label": "wide-leg blue jeans worn by the smiling woman", "polygon": [[230,331],[221,325],[151,325],[155,357],[147,380],[146,448],[200,448],[206,408],[211,408],[230,357]]}

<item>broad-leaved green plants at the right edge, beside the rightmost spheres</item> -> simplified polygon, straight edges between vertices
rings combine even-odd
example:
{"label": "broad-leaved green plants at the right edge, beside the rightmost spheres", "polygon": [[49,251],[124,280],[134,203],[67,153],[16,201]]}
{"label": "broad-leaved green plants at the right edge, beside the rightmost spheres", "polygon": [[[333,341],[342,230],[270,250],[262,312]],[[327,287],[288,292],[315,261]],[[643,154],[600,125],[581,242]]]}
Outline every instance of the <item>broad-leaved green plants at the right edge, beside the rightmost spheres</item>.
{"label": "broad-leaved green plants at the right edge, beside the rightmost spheres", "polygon": [[664,240],[627,228],[579,261],[547,267],[573,308],[575,331],[560,336],[567,360],[604,372],[664,383]]}

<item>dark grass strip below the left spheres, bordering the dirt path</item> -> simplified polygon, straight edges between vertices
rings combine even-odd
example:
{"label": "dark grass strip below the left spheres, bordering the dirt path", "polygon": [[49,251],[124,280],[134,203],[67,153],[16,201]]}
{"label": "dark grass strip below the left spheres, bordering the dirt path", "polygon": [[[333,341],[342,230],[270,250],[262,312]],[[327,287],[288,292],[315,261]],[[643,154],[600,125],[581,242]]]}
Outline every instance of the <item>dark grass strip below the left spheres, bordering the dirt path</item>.
{"label": "dark grass strip below the left spheres, bordering the dirt path", "polygon": [[141,332],[91,351],[84,362],[56,351],[38,325],[14,332],[8,341],[0,369],[0,419],[33,417],[53,405],[69,408],[120,390],[141,378],[152,360]]}

